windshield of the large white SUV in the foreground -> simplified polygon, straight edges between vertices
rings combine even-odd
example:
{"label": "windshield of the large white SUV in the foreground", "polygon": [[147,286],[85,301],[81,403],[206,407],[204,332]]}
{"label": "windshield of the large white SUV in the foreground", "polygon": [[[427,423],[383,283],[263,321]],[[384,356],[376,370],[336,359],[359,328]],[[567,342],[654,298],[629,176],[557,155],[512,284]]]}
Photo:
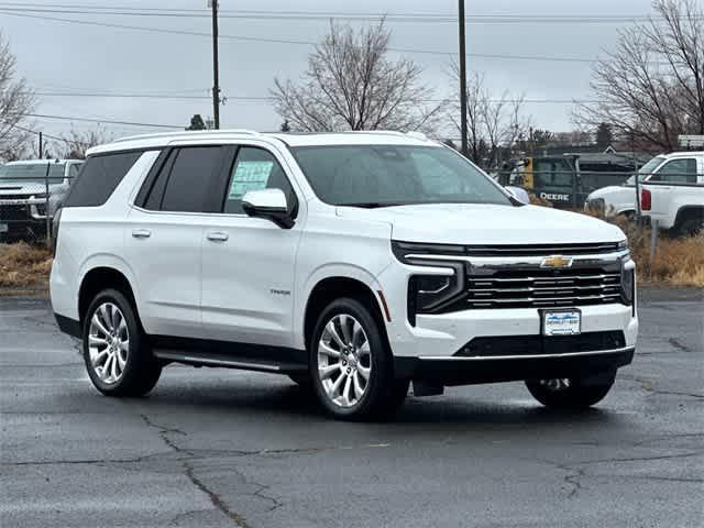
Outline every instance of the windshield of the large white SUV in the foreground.
{"label": "windshield of the large white SUV in the foreground", "polygon": [[334,206],[512,204],[488,176],[444,147],[326,145],[293,151],[316,195]]}

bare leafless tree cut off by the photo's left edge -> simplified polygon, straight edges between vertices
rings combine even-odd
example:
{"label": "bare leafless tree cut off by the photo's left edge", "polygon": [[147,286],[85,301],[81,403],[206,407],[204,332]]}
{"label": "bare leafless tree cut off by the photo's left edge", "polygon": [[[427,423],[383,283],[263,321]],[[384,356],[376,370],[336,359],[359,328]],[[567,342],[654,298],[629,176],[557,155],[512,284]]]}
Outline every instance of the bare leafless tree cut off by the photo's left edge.
{"label": "bare leafless tree cut off by the photo's left edge", "polygon": [[23,78],[15,78],[15,58],[0,33],[0,158],[24,152],[31,131],[23,125],[34,108],[34,95]]}

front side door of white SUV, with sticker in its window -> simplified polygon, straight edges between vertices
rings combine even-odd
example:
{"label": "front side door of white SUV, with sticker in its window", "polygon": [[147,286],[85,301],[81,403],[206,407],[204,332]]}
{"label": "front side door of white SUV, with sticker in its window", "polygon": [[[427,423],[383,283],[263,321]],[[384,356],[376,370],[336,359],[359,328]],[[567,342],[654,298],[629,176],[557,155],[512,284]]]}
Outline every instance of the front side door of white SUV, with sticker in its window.
{"label": "front side door of white SUV, with sticker in its window", "polygon": [[[204,331],[208,339],[290,346],[295,260],[305,204],[299,204],[284,164],[265,148],[240,146],[220,186],[219,213],[202,237]],[[248,217],[242,196],[252,189],[284,191],[296,223],[283,229]]]}

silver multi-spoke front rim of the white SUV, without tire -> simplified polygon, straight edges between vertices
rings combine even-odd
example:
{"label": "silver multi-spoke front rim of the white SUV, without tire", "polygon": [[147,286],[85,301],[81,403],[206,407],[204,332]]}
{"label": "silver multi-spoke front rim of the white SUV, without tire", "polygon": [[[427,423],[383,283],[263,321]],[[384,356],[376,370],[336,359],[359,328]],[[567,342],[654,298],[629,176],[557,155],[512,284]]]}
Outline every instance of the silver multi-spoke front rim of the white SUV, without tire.
{"label": "silver multi-spoke front rim of the white SUV, without tire", "polygon": [[352,316],[334,316],[318,342],[318,376],[326,394],[340,407],[362,399],[372,373],[372,351],[362,324]]}

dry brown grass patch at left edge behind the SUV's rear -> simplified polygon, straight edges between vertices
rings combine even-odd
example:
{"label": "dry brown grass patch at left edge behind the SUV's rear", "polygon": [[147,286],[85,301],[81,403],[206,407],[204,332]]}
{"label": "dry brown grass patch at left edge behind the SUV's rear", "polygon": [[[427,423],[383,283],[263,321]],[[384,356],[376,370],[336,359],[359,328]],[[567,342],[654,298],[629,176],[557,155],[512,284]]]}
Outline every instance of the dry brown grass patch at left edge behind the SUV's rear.
{"label": "dry brown grass patch at left edge behind the SUV's rear", "polygon": [[46,287],[52,253],[45,248],[0,244],[0,288]]}

